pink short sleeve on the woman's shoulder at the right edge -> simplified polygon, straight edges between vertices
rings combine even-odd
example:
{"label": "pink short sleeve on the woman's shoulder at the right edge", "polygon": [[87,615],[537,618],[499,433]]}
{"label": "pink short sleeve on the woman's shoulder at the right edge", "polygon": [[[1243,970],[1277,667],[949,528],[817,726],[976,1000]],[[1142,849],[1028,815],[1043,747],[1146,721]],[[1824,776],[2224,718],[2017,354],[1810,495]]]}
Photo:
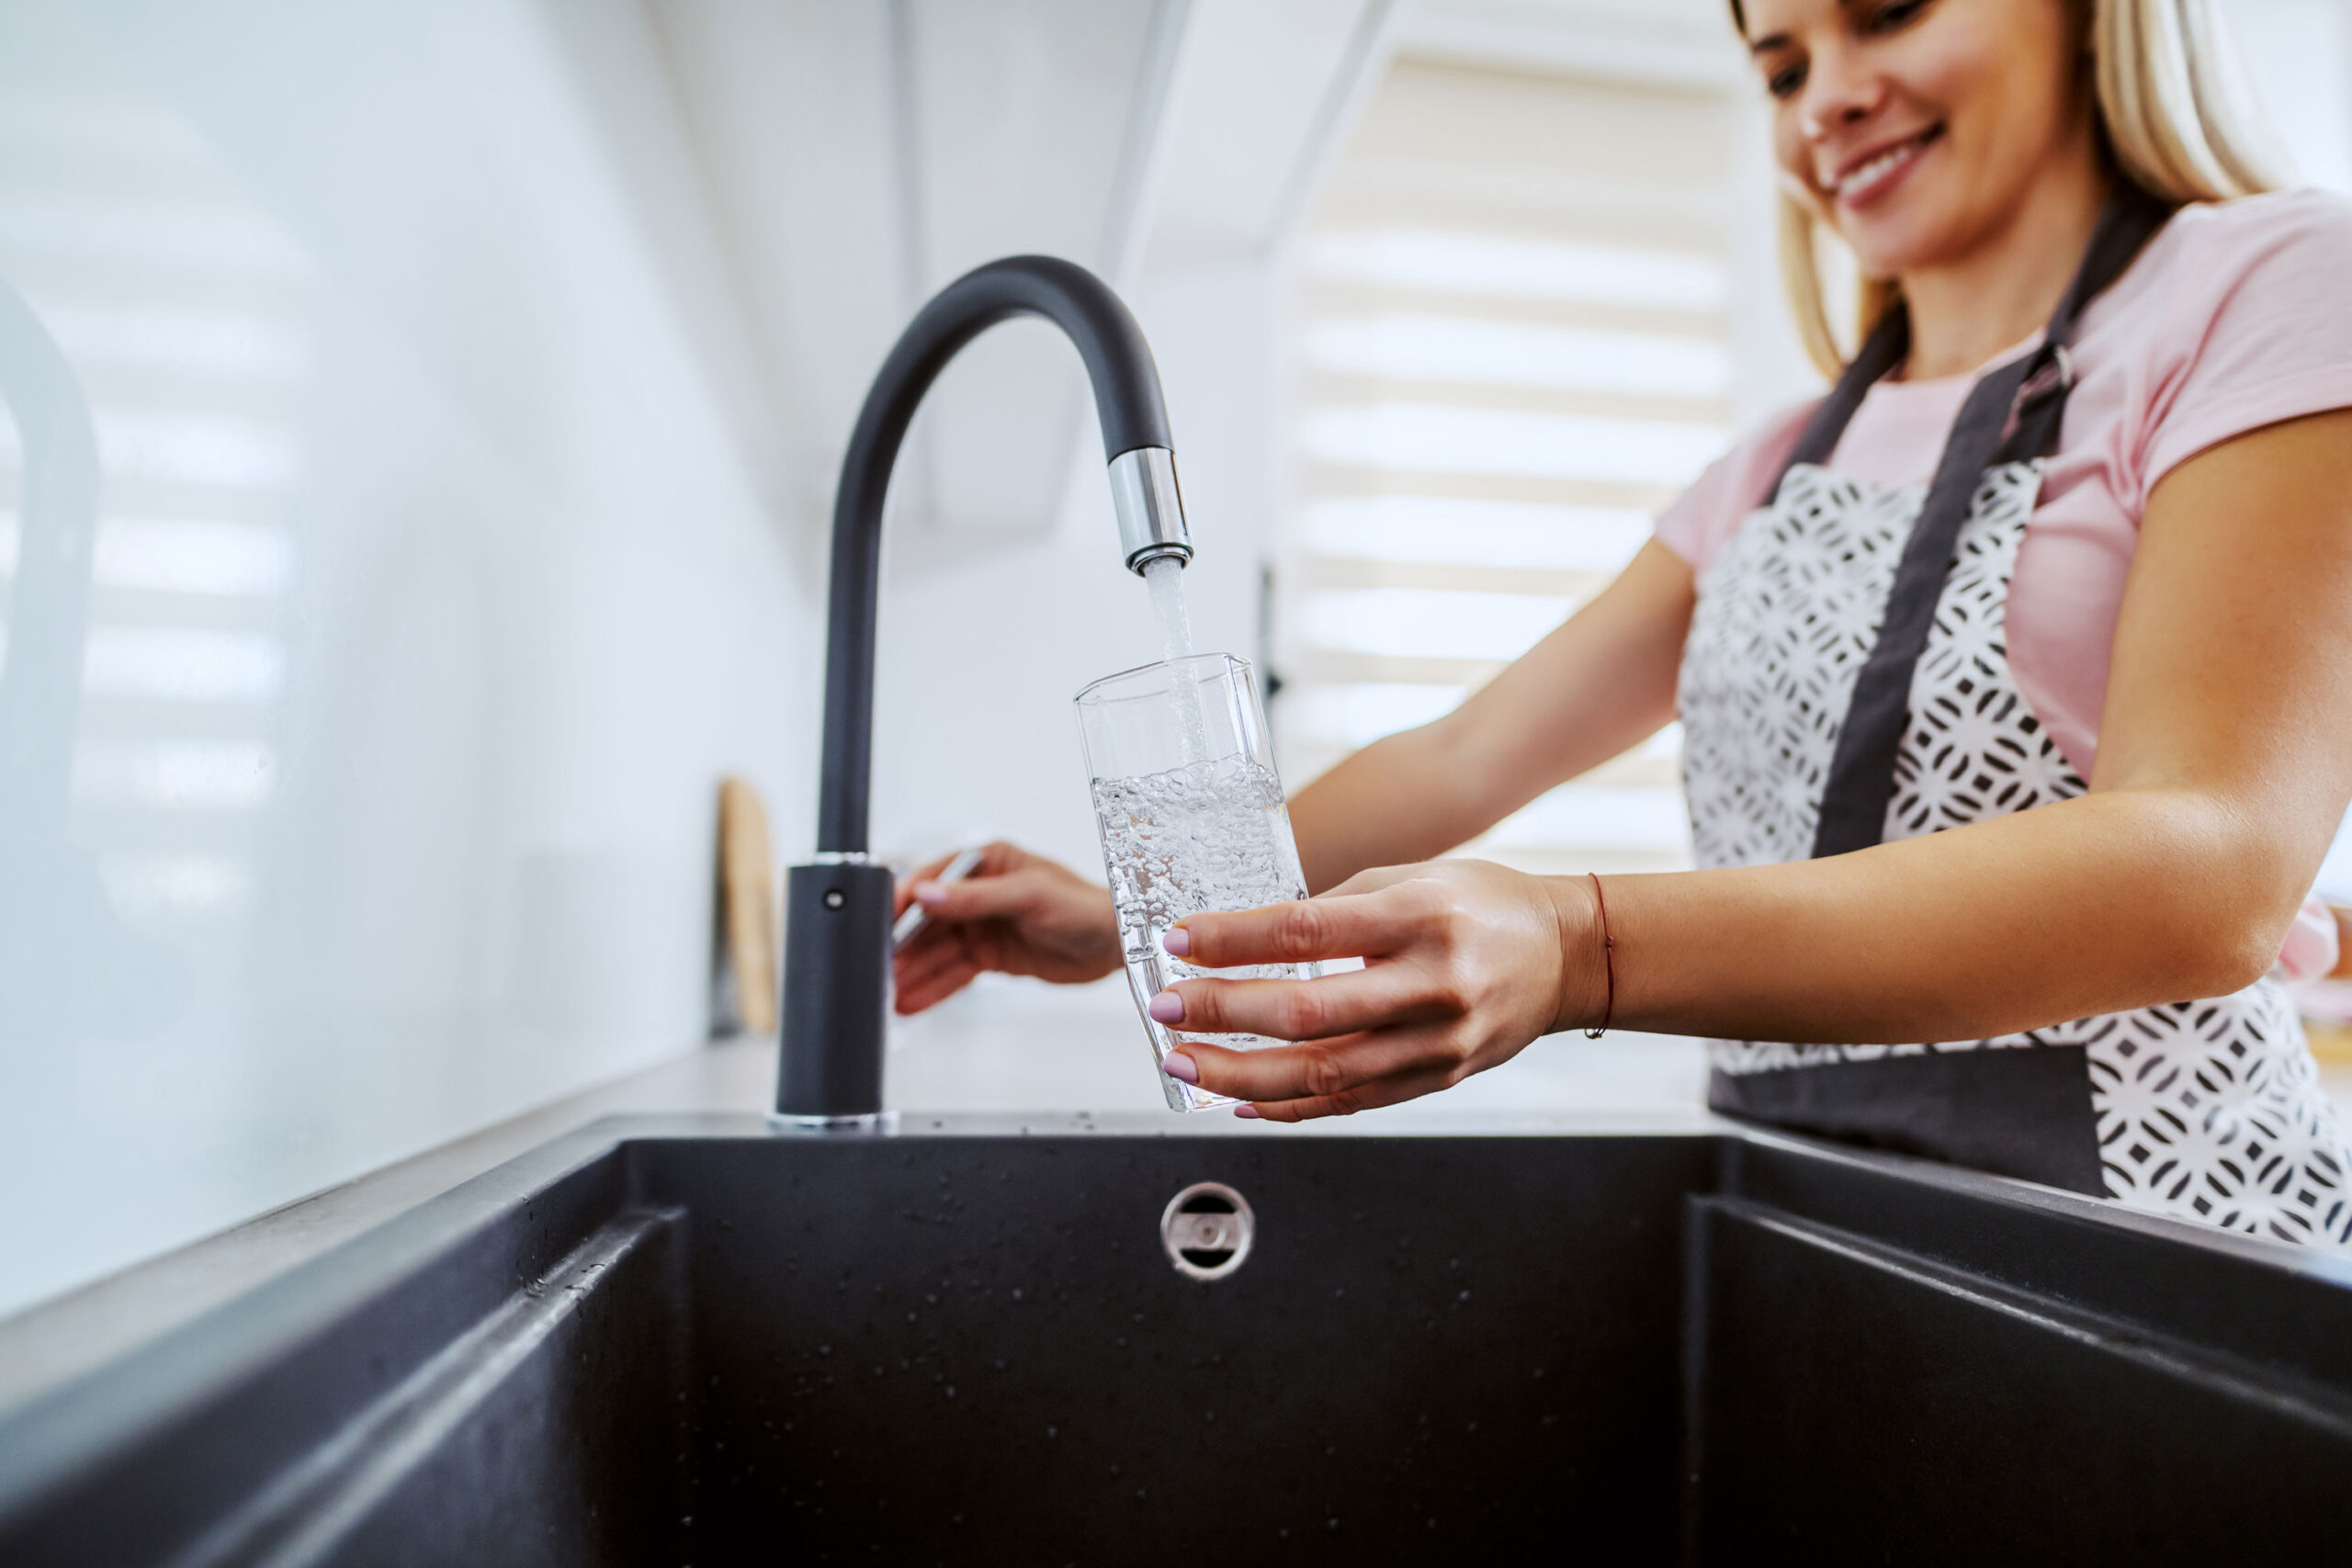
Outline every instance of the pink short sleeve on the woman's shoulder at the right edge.
{"label": "pink short sleeve on the woman's shoulder at the right edge", "polygon": [[2192,207],[2150,334],[2138,508],[2199,451],[2286,418],[2352,407],[2352,202],[2321,190]]}

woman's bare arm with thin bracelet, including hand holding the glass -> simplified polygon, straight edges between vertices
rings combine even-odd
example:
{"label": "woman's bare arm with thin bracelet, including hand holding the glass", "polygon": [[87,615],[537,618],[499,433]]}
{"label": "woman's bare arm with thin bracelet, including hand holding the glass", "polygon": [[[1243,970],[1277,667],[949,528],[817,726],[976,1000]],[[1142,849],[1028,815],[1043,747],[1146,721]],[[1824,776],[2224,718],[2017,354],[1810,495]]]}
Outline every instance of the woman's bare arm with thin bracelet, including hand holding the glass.
{"label": "woman's bare arm with thin bracelet, including hand holding the glass", "polygon": [[[1825,860],[1609,877],[1613,1018],[1931,1041],[2227,994],[2277,959],[2347,797],[2352,411],[2336,411],[2157,484],[2089,795]],[[1171,950],[1207,966],[1367,959],[1157,999],[1188,1034],[1301,1041],[1188,1046],[1207,1088],[1277,1119],[1444,1088],[1597,1023],[1609,987],[1590,879],[1477,863],[1374,870],[1181,931]]]}

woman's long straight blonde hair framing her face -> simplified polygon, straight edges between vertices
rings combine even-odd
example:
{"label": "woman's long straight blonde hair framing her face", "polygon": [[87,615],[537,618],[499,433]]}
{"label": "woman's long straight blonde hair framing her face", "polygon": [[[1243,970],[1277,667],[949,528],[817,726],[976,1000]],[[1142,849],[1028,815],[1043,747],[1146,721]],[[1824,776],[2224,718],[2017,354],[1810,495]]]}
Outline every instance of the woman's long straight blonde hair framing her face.
{"label": "woman's long straight blonde hair framing her face", "polygon": [[[2225,202],[2291,183],[2286,155],[2253,103],[2211,0],[2067,0],[2089,9],[2098,129],[2124,179],[2173,205]],[[1748,31],[1740,0],[1731,19]],[[1844,369],[1820,289],[1820,216],[1780,193],[1780,282],[1797,339],[1825,376]],[[1898,299],[1891,277],[1863,277],[1856,341]]]}

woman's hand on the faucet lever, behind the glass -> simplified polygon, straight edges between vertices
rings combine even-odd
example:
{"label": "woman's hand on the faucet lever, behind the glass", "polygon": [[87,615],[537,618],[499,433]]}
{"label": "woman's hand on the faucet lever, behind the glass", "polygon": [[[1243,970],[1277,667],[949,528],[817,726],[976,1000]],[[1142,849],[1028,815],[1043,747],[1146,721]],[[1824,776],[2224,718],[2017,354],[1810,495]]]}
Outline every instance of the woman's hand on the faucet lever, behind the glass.
{"label": "woman's hand on the faucet lever, behind the glass", "polygon": [[1120,922],[1110,891],[1016,844],[990,844],[962,882],[931,882],[934,860],[898,884],[931,919],[891,959],[898,1011],[920,1013],[971,985],[983,969],[1058,985],[1101,980],[1120,966]]}

